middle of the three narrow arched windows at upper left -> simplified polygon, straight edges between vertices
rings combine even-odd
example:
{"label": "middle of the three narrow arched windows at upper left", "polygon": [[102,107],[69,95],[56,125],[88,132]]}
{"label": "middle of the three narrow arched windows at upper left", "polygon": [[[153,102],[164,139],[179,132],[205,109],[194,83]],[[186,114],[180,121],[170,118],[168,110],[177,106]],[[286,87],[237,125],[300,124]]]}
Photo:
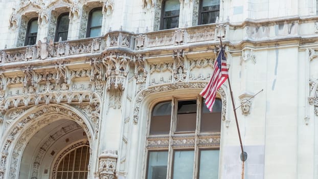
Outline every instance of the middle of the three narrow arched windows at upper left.
{"label": "middle of the three narrow arched windows at upper left", "polygon": [[69,34],[69,13],[62,13],[57,18],[57,25],[56,25],[56,33],[54,41],[58,41],[60,38],[62,41],[67,40],[67,34]]}

